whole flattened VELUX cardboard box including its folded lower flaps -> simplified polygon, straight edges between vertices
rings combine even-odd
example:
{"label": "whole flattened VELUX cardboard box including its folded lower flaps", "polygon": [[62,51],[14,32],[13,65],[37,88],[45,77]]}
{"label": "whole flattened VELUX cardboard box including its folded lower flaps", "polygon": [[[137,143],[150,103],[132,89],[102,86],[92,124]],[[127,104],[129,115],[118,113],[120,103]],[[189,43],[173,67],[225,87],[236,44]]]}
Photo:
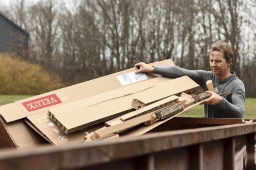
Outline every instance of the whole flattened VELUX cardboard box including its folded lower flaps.
{"label": "whole flattened VELUX cardboard box including its folded lower flaps", "polygon": [[[172,60],[164,60],[160,62],[151,63],[152,66],[165,66],[165,65],[175,65]],[[84,98],[88,98],[93,95],[104,93],[106,91],[118,89],[123,86],[127,86],[133,83],[143,82],[144,75],[142,78],[137,77],[138,80],[131,79],[126,77],[131,72],[134,72],[136,68],[130,68],[124,71],[117,72],[112,75],[104,76],[97,78],[91,81],[83,82],[73,86],[61,88],[44,94],[36,95],[28,99],[20,100],[11,104],[0,106],[0,114],[3,116],[1,121],[2,125],[5,127],[4,130],[0,131],[1,135],[8,134],[12,141],[10,146],[15,145],[19,149],[37,147],[38,145],[44,143],[37,140],[38,137],[35,137],[33,133],[40,131],[41,139],[45,141],[51,141],[52,144],[58,145],[58,137],[61,136],[55,132],[52,133],[53,129],[49,131],[50,125],[53,125],[52,120],[48,118],[47,113],[48,109],[60,106],[63,104],[72,103]],[[127,75],[126,75],[127,74]],[[160,77],[155,74],[145,74],[146,78],[154,79]],[[162,80],[167,80],[163,78]],[[146,80],[147,81],[147,80]],[[35,116],[35,117],[34,117]],[[38,117],[37,117],[38,116]],[[41,116],[41,117],[40,117]],[[28,117],[28,119],[27,119]],[[40,118],[45,118],[45,122],[49,125],[48,128],[44,128],[44,124],[40,121]],[[27,123],[32,128],[28,128]],[[42,120],[42,119],[41,119]],[[13,128],[14,127],[14,128]],[[58,130],[57,126],[54,125],[54,128]],[[19,135],[19,129],[22,130],[22,135]],[[25,133],[26,132],[26,133]],[[54,134],[55,135],[52,135]],[[83,132],[85,133],[85,132]],[[47,140],[46,140],[47,139]],[[63,140],[63,139],[61,139]],[[68,139],[68,141],[73,139]],[[82,138],[83,140],[83,138]],[[64,140],[63,140],[64,141]],[[61,143],[62,144],[62,143]],[[27,147],[23,147],[27,145]],[[0,148],[8,147],[4,143],[0,144]]]}

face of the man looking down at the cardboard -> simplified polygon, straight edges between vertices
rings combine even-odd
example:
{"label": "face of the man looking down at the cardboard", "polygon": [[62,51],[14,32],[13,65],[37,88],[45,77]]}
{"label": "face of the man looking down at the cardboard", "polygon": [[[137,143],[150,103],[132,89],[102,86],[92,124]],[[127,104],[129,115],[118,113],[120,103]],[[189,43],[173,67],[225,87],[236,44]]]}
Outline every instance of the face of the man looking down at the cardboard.
{"label": "face of the man looking down at the cardboard", "polygon": [[219,80],[223,80],[229,74],[229,66],[222,51],[210,53],[210,68]]}

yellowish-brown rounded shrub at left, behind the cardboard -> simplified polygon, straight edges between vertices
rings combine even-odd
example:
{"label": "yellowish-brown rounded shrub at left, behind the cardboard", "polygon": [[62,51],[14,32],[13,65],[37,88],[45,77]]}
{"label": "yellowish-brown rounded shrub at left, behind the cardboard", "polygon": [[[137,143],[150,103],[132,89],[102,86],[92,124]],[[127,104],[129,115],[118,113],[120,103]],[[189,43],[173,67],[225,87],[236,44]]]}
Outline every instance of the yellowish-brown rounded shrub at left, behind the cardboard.
{"label": "yellowish-brown rounded shrub at left, behind the cardboard", "polygon": [[0,54],[0,94],[41,94],[63,87],[39,65]]}

